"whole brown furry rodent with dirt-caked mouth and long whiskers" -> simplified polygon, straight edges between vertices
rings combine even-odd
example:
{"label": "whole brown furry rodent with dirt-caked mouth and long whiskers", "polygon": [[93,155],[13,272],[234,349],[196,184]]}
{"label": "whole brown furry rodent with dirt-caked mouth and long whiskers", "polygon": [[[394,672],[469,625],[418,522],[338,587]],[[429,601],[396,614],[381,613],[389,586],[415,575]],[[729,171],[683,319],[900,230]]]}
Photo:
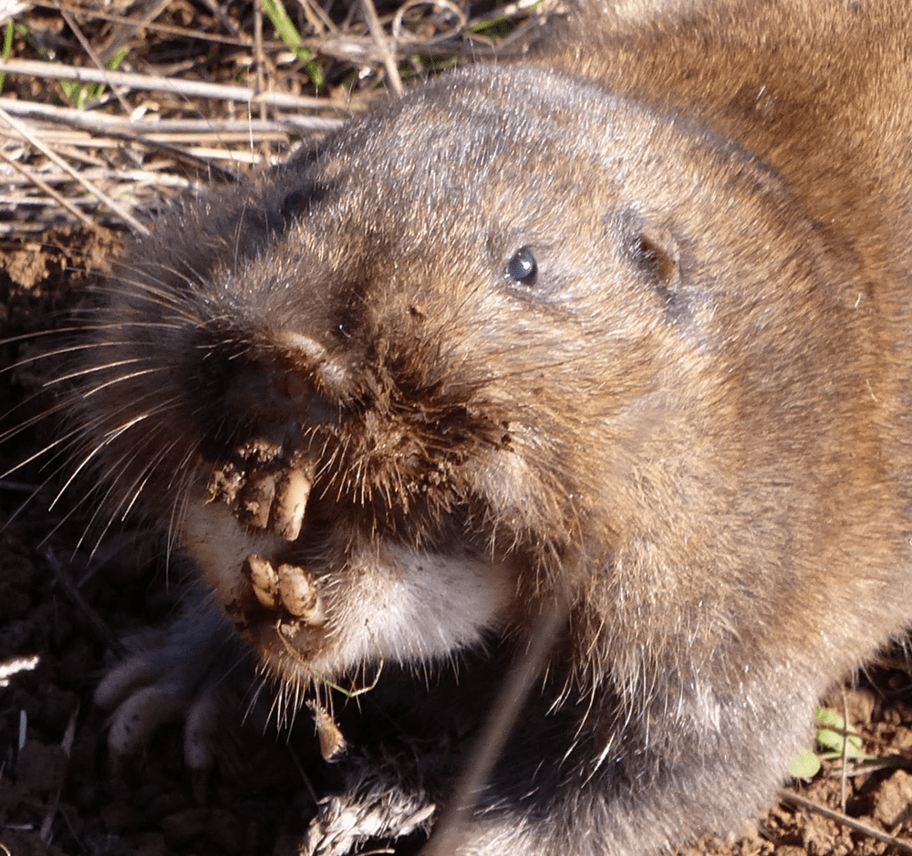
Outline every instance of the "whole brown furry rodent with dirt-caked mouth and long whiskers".
{"label": "whole brown furry rodent with dirt-caked mouth and long whiskers", "polygon": [[[565,610],[450,852],[731,829],[912,618],[908,37],[901,0],[581,0],[126,257],[79,466],[286,699],[381,662],[417,699]],[[109,677],[115,732],[174,669],[211,664]]]}

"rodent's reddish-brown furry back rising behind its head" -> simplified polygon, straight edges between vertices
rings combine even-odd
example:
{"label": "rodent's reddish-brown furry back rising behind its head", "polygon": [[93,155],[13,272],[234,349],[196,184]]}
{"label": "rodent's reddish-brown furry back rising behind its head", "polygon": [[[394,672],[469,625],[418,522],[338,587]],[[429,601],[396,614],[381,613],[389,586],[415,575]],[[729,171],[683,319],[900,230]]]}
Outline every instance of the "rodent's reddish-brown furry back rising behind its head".
{"label": "rodent's reddish-brown furry back rising behind its head", "polygon": [[573,5],[539,61],[741,143],[822,226],[865,235],[907,217],[912,194],[908,28],[896,0],[595,0]]}

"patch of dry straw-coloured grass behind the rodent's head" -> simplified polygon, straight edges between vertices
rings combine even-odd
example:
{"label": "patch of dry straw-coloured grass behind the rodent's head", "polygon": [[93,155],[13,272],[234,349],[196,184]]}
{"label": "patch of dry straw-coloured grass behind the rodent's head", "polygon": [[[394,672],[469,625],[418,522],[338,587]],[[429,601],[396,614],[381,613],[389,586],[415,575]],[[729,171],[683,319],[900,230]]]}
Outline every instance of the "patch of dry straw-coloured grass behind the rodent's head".
{"label": "patch of dry straw-coloured grass behind the rodent's head", "polygon": [[297,46],[254,3],[17,6],[0,57],[0,240],[141,232],[171,193],[283,160],[440,62],[494,56],[504,22],[522,39],[531,2],[299,0],[285,7]]}

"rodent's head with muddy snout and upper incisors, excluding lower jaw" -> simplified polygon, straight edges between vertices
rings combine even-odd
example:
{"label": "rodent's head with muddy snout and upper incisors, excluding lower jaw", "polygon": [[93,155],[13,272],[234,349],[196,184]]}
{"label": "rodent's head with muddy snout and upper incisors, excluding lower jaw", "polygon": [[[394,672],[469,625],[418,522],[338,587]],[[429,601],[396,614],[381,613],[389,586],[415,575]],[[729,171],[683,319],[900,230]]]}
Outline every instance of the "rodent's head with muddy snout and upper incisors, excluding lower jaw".
{"label": "rodent's head with muddy snout and upper incisors, excluding lower jaw", "polygon": [[814,285],[800,236],[778,241],[785,194],[573,78],[451,75],[140,242],[88,446],[121,506],[208,492],[308,565],[378,539],[574,600],[571,566],[605,567],[645,496],[679,501],[692,434],[736,442],[704,422],[740,406],[726,384],[791,359],[763,339]]}

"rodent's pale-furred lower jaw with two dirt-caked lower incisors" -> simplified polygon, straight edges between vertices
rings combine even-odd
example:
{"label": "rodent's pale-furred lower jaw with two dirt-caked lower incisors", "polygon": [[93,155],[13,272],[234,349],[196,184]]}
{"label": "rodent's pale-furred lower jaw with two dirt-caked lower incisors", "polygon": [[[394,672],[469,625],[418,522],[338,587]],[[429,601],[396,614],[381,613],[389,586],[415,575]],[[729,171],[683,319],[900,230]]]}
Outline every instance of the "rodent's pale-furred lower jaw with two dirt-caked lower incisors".
{"label": "rodent's pale-furred lower jaw with two dirt-caked lower incisors", "polygon": [[244,527],[218,502],[188,504],[181,546],[235,629],[285,679],[440,660],[482,642],[516,597],[507,561],[380,537],[356,539],[306,569],[282,564],[275,557],[287,553],[285,539]]}

